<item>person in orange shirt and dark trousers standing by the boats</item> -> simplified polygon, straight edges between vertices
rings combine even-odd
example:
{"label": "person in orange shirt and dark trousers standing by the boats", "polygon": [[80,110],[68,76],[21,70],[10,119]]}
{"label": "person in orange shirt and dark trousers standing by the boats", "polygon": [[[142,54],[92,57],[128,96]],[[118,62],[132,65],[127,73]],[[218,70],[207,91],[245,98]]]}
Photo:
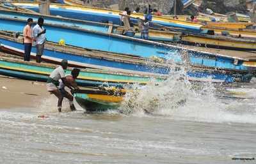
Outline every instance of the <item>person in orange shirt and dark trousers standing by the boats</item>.
{"label": "person in orange shirt and dark trousers standing by the boats", "polygon": [[34,38],[32,37],[32,28],[31,24],[33,23],[33,19],[29,18],[27,21],[27,25],[23,29],[24,35],[24,61],[30,61],[30,53],[32,48],[32,41]]}

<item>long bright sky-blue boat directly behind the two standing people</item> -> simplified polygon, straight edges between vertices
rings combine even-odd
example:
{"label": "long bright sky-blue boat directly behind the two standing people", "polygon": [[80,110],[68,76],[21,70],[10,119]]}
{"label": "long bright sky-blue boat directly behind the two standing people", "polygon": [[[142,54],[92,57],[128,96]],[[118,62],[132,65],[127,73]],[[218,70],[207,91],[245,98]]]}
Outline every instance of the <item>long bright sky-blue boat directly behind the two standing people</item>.
{"label": "long bright sky-blue boat directly behind the two standing people", "polygon": [[[22,33],[23,27],[26,24],[25,22],[26,20],[24,19],[0,17],[1,29],[6,31]],[[175,53],[177,51],[177,47],[172,45],[118,34],[102,33],[100,31],[92,31],[72,26],[60,26],[58,24],[45,23],[44,27],[47,29],[47,40],[49,41],[59,42],[60,40],[65,40],[67,45],[92,50],[140,57],[164,57],[166,54]],[[74,38],[79,38],[79,40],[74,40]]]}

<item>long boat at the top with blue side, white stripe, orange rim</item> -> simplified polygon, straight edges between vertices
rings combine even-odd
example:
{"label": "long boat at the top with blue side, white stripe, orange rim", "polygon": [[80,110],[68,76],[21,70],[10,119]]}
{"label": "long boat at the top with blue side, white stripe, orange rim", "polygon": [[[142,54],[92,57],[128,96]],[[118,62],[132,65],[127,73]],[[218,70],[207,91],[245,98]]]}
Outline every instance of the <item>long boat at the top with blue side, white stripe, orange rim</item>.
{"label": "long boat at the top with blue side, white stripe, orange rim", "polygon": [[[28,8],[29,10],[39,11],[37,3],[12,3],[22,8]],[[107,10],[102,8],[93,8],[87,6],[70,6],[63,4],[51,4],[51,15],[60,15],[61,17],[67,17],[79,20],[89,20],[92,22],[113,22],[113,24],[120,24],[120,15],[122,11]],[[132,17],[138,17],[142,19],[144,17],[141,13],[132,13]],[[137,23],[138,20],[131,19],[132,22]],[[199,33],[202,25],[194,22],[186,22],[182,20],[175,20],[166,17],[155,16],[152,20],[153,23],[160,24],[162,26],[176,27],[179,29],[185,29],[186,31]],[[153,25],[152,25],[153,26]]]}

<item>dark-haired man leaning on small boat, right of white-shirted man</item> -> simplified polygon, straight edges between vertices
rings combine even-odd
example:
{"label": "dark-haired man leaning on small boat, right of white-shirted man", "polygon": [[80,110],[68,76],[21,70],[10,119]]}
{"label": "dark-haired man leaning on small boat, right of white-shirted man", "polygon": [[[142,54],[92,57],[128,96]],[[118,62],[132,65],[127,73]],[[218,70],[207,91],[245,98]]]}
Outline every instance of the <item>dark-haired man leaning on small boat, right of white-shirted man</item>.
{"label": "dark-haired man leaning on small boat, right of white-shirted man", "polygon": [[[75,89],[75,91],[77,91],[79,88],[77,87],[77,83],[76,83],[76,78],[78,77],[79,75],[79,72],[80,70],[77,69],[77,68],[74,68],[72,71],[71,71],[71,75],[66,75],[66,86],[67,87],[73,87]],[[70,110],[74,111],[76,110],[76,107],[74,106],[74,97],[72,96],[72,94],[68,93],[66,90],[65,90],[65,84],[63,83],[63,81],[60,79],[60,86],[59,86],[59,89],[60,89],[60,93],[61,93],[61,99],[60,99],[60,105],[62,105],[62,101],[63,101],[63,98],[67,98],[69,100],[69,105],[70,105]],[[59,112],[61,111],[61,109],[59,110]]]}

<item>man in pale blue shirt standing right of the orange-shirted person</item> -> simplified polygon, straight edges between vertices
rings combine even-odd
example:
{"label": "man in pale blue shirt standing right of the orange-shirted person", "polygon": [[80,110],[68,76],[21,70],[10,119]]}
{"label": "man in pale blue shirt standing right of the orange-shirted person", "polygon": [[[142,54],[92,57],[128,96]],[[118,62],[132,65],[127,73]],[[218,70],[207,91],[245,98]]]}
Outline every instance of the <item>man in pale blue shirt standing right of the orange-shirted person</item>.
{"label": "man in pale blue shirt standing right of the orange-shirted person", "polygon": [[33,27],[33,36],[36,41],[36,63],[41,62],[41,56],[44,53],[44,45],[45,45],[45,32],[44,29],[44,19],[42,17],[38,18],[37,24]]}

